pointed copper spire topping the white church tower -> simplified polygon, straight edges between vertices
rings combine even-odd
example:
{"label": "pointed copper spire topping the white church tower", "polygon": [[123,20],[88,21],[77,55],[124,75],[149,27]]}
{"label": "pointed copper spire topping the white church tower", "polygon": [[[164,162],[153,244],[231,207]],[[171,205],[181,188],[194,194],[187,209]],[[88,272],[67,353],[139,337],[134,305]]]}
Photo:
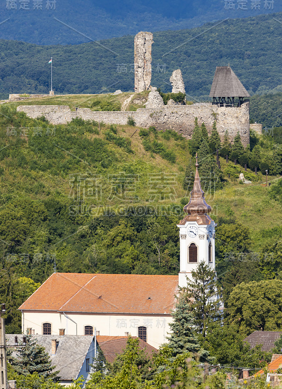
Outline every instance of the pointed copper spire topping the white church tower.
{"label": "pointed copper spire topping the white church tower", "polygon": [[192,191],[190,192],[191,195],[190,201],[183,208],[184,212],[187,212],[190,215],[193,214],[206,215],[212,210],[212,208],[206,203],[204,197],[205,193],[201,188],[198,167],[199,167],[198,155],[196,153],[196,174],[195,174],[194,186]]}

